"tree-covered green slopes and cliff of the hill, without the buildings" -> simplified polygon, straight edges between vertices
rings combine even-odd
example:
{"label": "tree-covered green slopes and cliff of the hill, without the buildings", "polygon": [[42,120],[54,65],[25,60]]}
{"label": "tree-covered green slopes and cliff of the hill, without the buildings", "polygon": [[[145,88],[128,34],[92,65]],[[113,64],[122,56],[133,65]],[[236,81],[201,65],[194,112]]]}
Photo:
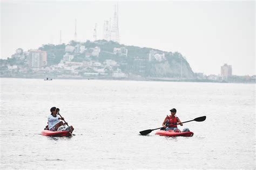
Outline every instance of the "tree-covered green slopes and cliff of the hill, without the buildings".
{"label": "tree-covered green slopes and cliff of the hill, without the buildings", "polygon": [[[86,58],[84,54],[75,55],[73,62],[83,62],[84,60],[95,60],[103,63],[106,59],[115,60],[119,64],[119,69],[122,72],[134,74],[142,77],[165,77],[165,78],[187,78],[193,79],[194,72],[190,64],[179,52],[167,52],[148,47],[127,46],[118,44],[116,42],[108,42],[106,40],[97,40],[95,42],[74,42],[71,41],[69,45],[76,46],[77,44],[84,45],[85,48],[90,49],[96,46],[100,47],[99,57]],[[126,56],[115,55],[113,53],[114,47],[125,47]],[[48,64],[58,64],[65,54],[65,44],[61,45],[43,45],[39,48],[48,53]],[[157,51],[157,53],[164,53],[165,60],[149,61],[150,50]],[[182,63],[182,65],[181,65]]]}

